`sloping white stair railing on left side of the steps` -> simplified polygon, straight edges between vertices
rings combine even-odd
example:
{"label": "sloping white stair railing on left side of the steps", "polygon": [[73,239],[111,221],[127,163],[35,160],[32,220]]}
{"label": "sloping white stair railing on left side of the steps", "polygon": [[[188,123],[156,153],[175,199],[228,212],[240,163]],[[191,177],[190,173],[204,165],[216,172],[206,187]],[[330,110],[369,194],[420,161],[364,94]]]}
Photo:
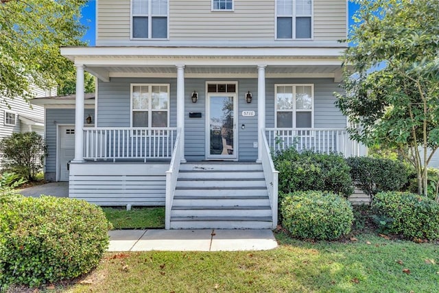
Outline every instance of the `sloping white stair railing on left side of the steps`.
{"label": "sloping white stair railing on left side of the steps", "polygon": [[178,129],[176,144],[172,151],[172,159],[169,164],[169,169],[166,172],[166,197],[165,197],[165,229],[169,230],[171,227],[171,208],[174,202],[174,193],[176,190],[178,172],[180,171],[180,163],[182,159],[182,152],[180,148],[180,132]]}

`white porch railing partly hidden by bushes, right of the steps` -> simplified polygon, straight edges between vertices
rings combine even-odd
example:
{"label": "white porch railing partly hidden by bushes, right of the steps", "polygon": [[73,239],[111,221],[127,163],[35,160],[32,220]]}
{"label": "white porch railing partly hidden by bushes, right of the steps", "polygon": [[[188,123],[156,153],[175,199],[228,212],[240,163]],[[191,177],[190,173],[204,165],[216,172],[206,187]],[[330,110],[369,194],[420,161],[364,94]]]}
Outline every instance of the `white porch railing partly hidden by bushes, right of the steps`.
{"label": "white porch railing partly hidden by bushes, right of the steps", "polygon": [[267,128],[270,150],[278,151],[295,146],[297,150],[337,152],[345,157],[359,156],[360,145],[349,139],[346,128]]}

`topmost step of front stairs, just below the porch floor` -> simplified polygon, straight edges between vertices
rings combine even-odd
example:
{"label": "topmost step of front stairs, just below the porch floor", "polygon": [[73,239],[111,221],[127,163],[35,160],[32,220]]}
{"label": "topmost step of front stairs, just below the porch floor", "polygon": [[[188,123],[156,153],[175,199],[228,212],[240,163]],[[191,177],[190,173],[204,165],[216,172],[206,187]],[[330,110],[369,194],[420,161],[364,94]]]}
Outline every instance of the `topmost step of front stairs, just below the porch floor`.
{"label": "topmost step of front stairs, just below the porch floor", "polygon": [[262,171],[261,163],[251,162],[199,162],[183,163],[180,171]]}

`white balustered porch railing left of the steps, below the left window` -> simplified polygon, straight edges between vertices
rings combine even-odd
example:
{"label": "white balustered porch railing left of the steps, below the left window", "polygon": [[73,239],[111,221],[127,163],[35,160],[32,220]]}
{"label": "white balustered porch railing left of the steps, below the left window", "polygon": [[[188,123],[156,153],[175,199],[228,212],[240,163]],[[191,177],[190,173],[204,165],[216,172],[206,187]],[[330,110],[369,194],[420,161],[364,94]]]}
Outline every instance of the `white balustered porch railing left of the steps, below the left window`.
{"label": "white balustered porch railing left of the steps, below the left window", "polygon": [[84,159],[171,159],[177,128],[84,128]]}

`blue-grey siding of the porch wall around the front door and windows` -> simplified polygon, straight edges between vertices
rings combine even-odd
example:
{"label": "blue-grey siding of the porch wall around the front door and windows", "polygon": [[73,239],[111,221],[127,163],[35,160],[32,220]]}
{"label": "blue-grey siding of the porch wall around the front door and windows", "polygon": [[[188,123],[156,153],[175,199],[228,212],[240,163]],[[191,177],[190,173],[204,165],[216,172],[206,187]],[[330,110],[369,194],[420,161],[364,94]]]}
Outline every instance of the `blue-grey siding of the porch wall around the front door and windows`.
{"label": "blue-grey siding of the porch wall around the front door and windows", "polygon": [[[256,78],[186,78],[185,79],[185,157],[187,160],[206,159],[206,82],[237,82],[237,113],[235,124],[238,131],[239,161],[257,159],[257,115],[242,117],[243,110],[257,113]],[[176,78],[112,78],[111,82],[98,82],[97,119],[99,127],[130,126],[130,84],[169,84],[170,89],[170,127],[176,127]],[[266,80],[266,113],[268,128],[274,127],[274,84],[313,84],[314,85],[314,127],[344,128],[346,117],[335,105],[334,91],[340,91],[332,78],[268,78]],[[198,92],[198,102],[192,103],[189,97]],[[244,99],[250,91],[253,99],[248,104]],[[86,109],[87,110],[87,109]],[[200,112],[201,118],[189,118],[189,113]],[[71,118],[73,119],[73,117]],[[47,121],[50,121],[47,118]],[[73,121],[73,120],[71,120]],[[244,124],[244,129],[241,126]]]}

